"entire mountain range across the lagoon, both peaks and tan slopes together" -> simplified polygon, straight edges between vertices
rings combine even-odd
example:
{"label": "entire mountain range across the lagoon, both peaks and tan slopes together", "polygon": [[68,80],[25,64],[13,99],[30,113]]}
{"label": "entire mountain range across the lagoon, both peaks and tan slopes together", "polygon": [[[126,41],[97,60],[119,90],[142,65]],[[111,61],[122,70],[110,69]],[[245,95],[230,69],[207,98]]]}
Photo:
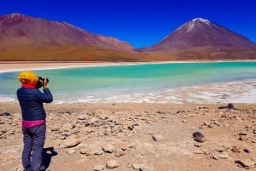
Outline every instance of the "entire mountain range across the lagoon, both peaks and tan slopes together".
{"label": "entire mountain range across the lagoon, both peaks and tan slopes together", "polygon": [[159,43],[133,48],[114,37],[65,21],[0,15],[0,60],[255,60],[256,44],[202,18],[184,23]]}

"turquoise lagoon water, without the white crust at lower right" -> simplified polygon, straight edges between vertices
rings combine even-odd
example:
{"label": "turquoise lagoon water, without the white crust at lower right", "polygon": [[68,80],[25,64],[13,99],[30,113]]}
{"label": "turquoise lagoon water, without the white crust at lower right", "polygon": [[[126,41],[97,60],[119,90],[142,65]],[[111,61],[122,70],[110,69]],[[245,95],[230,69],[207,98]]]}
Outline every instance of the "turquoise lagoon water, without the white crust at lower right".
{"label": "turquoise lagoon water, without the white crust at lower right", "polygon": [[[35,72],[49,77],[55,102],[120,101],[137,94],[142,97],[174,88],[255,79],[256,62],[87,66]],[[0,73],[0,101],[16,100],[19,73]]]}

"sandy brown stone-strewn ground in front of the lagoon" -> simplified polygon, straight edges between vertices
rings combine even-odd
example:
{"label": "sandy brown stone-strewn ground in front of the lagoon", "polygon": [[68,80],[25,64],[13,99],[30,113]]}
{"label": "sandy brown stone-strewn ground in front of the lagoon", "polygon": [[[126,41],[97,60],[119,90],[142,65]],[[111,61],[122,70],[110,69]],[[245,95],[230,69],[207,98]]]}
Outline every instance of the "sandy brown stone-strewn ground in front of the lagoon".
{"label": "sandy brown stone-strewn ground in front of the lagoon", "polygon": [[[44,105],[44,164],[51,171],[255,170],[256,105],[233,105]],[[18,104],[0,103],[0,140],[0,170],[21,170]]]}

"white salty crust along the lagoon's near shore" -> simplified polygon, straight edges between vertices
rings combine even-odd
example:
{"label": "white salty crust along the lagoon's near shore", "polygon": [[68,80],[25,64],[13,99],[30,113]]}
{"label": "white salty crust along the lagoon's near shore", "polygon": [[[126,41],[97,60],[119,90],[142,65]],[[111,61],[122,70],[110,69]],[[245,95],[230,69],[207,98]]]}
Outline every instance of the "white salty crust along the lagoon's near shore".
{"label": "white salty crust along the lagoon's near shore", "polygon": [[[13,96],[0,95],[0,102],[15,102]],[[83,99],[55,100],[54,103],[256,103],[256,80],[232,83],[211,83],[201,86],[172,88],[146,94],[123,94],[108,97],[88,96]]]}

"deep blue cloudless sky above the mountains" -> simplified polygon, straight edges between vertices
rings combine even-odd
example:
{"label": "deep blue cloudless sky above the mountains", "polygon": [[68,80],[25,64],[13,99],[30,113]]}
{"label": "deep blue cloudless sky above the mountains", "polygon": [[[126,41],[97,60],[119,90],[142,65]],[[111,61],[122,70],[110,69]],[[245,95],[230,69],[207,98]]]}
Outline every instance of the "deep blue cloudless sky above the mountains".
{"label": "deep blue cloudless sky above the mountains", "polygon": [[0,14],[20,13],[67,21],[86,31],[143,48],[183,23],[201,17],[256,43],[253,0],[3,0]]}

